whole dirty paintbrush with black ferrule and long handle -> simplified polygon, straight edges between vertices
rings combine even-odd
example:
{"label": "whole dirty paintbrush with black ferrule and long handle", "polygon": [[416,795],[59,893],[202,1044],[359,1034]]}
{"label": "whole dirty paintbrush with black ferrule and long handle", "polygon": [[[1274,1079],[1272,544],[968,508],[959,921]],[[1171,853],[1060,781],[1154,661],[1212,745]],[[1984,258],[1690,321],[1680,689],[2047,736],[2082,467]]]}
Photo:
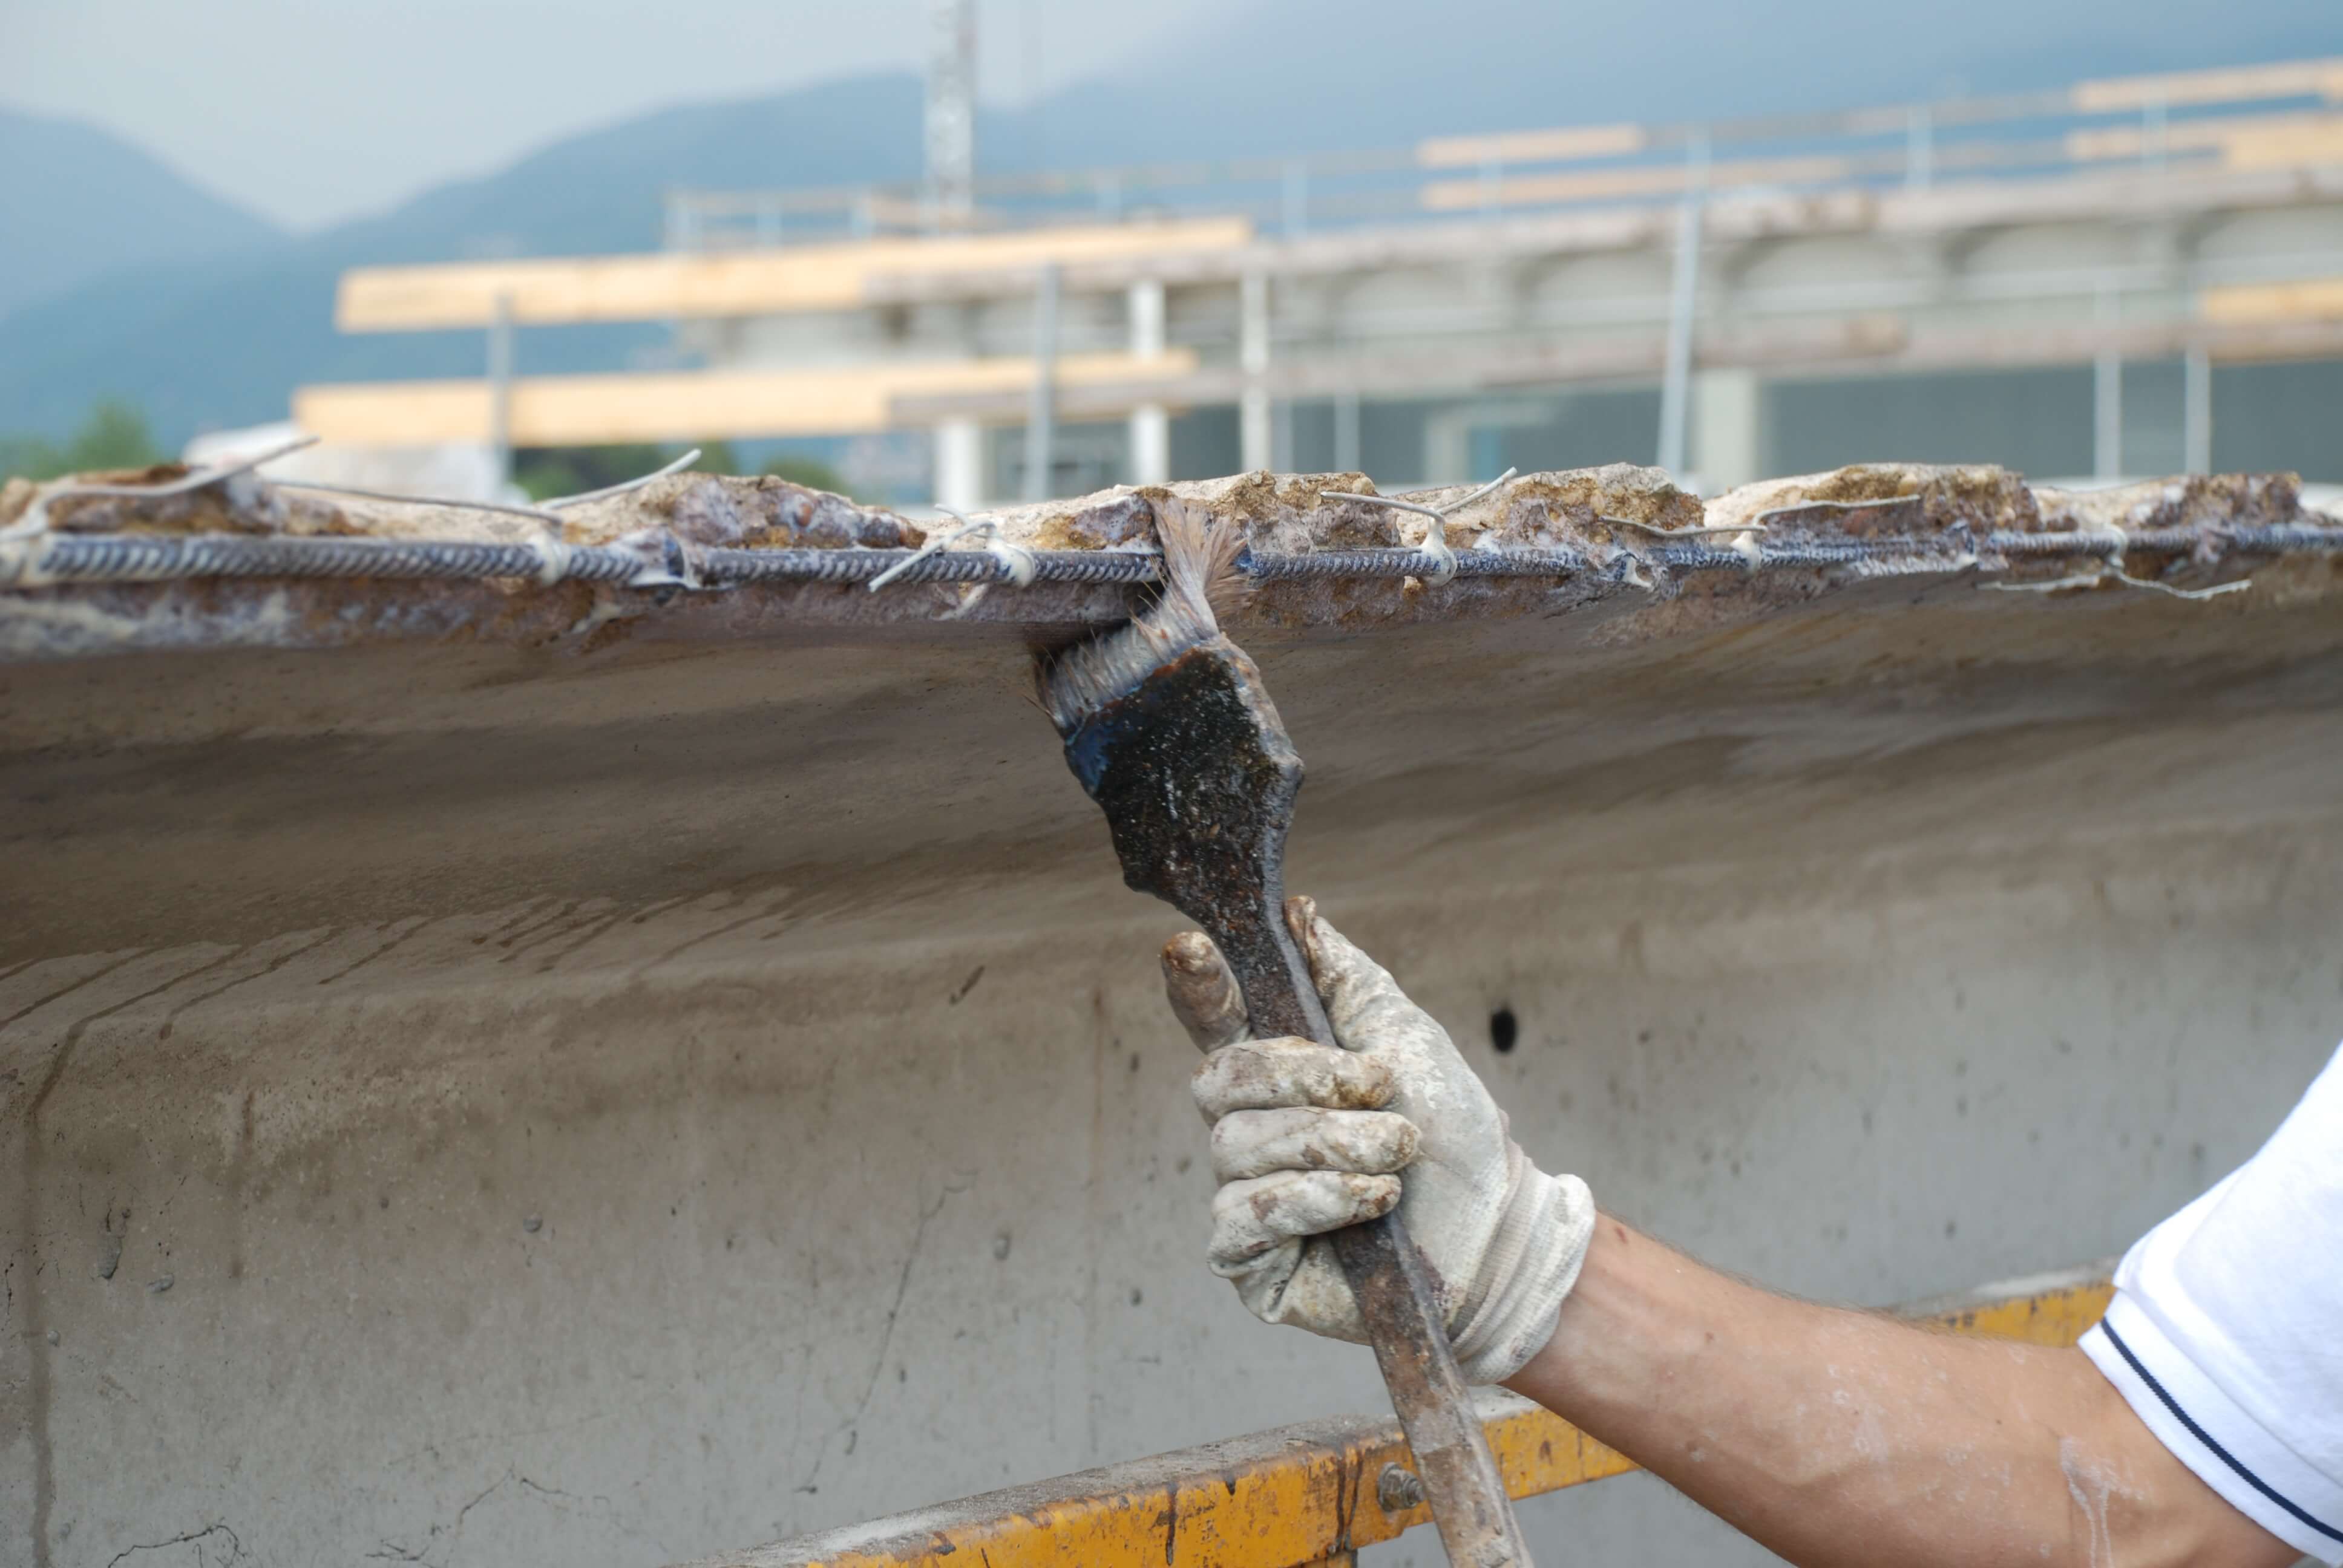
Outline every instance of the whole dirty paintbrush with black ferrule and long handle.
{"label": "whole dirty paintbrush with black ferrule and long handle", "polygon": [[[1174,905],[1221,947],[1254,1034],[1336,1045],[1284,921],[1286,830],[1303,759],[1261,670],[1218,621],[1244,595],[1244,532],[1176,499],[1155,502],[1155,532],[1162,598],[1127,626],[1043,659],[1043,708],[1073,776],[1106,811],[1122,881]],[[1399,1216],[1331,1240],[1448,1561],[1525,1568],[1514,1505]],[[1406,1493],[1401,1484],[1392,1505],[1406,1507]]]}

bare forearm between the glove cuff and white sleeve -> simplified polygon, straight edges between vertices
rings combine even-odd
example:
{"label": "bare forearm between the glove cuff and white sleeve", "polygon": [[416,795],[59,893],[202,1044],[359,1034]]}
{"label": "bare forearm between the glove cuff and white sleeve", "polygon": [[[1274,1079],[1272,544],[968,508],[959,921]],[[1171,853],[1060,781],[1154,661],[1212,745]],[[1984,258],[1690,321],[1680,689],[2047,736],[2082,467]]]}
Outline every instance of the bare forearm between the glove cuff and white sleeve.
{"label": "bare forearm between the glove cuff and white sleeve", "polygon": [[2287,1563],[2074,1350],[1774,1296],[1605,1216],[1511,1388],[1792,1563]]}

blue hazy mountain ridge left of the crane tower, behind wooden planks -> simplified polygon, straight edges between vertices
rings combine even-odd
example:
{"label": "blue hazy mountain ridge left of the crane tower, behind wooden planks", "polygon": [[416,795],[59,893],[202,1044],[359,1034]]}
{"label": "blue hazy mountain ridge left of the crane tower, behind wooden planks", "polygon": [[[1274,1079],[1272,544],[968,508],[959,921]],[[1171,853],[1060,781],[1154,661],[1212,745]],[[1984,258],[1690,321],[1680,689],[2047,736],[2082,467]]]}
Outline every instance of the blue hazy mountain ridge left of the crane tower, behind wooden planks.
{"label": "blue hazy mountain ridge left of the crane tower, behind wooden planks", "polygon": [[[916,77],[883,75],[663,110],[380,218],[52,295],[0,319],[0,431],[56,438],[98,398],[122,398],[178,445],[204,429],[281,420],[302,382],[478,375],[480,333],[335,333],[342,272],[656,248],[670,185],[911,178],[918,105]],[[654,363],[665,340],[656,323],[532,328],[515,356],[525,373],[609,370]]]}

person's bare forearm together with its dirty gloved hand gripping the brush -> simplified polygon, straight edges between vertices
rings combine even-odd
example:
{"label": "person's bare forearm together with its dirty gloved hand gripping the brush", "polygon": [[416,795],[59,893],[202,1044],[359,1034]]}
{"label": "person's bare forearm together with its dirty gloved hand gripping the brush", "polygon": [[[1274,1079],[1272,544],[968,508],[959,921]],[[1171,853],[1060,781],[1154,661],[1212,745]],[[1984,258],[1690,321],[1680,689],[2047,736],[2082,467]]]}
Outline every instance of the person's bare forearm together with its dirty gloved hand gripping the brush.
{"label": "person's bare forearm together with its dirty gloved hand gripping the brush", "polygon": [[[1300,905],[1300,900],[1296,900]],[[1528,1167],[1448,1036],[1305,905],[1340,1050],[1244,1041],[1202,938],[1164,954],[1214,1120],[1211,1261],[1270,1322],[1354,1338],[1314,1242],[1401,1202],[1469,1371],[1507,1380],[1795,1563],[2280,1568],[2294,1552],[2191,1474],[2074,1350],[1959,1341],[1788,1301],[1591,1212]],[[1359,1005],[1371,996],[1375,1005]],[[1528,1174],[1523,1174],[1528,1167]],[[1553,1184],[1553,1186],[1539,1186]],[[1478,1193],[1478,1195],[1476,1195]],[[1544,1193],[1535,1226],[1500,1226]],[[1511,1298],[1490,1336],[1469,1303]],[[1528,1338],[1535,1324],[1535,1345]],[[1488,1345],[1521,1345],[1521,1355]]]}

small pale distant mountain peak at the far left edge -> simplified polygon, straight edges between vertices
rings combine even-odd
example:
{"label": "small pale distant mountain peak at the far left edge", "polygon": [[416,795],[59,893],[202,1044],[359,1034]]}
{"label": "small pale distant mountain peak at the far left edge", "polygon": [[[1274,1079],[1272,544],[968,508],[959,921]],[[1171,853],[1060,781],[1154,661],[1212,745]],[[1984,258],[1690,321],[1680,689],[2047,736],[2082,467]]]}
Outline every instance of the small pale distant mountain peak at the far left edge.
{"label": "small pale distant mountain peak at the far left edge", "polygon": [[127,141],[0,108],[0,316],[108,272],[274,239],[267,220]]}

